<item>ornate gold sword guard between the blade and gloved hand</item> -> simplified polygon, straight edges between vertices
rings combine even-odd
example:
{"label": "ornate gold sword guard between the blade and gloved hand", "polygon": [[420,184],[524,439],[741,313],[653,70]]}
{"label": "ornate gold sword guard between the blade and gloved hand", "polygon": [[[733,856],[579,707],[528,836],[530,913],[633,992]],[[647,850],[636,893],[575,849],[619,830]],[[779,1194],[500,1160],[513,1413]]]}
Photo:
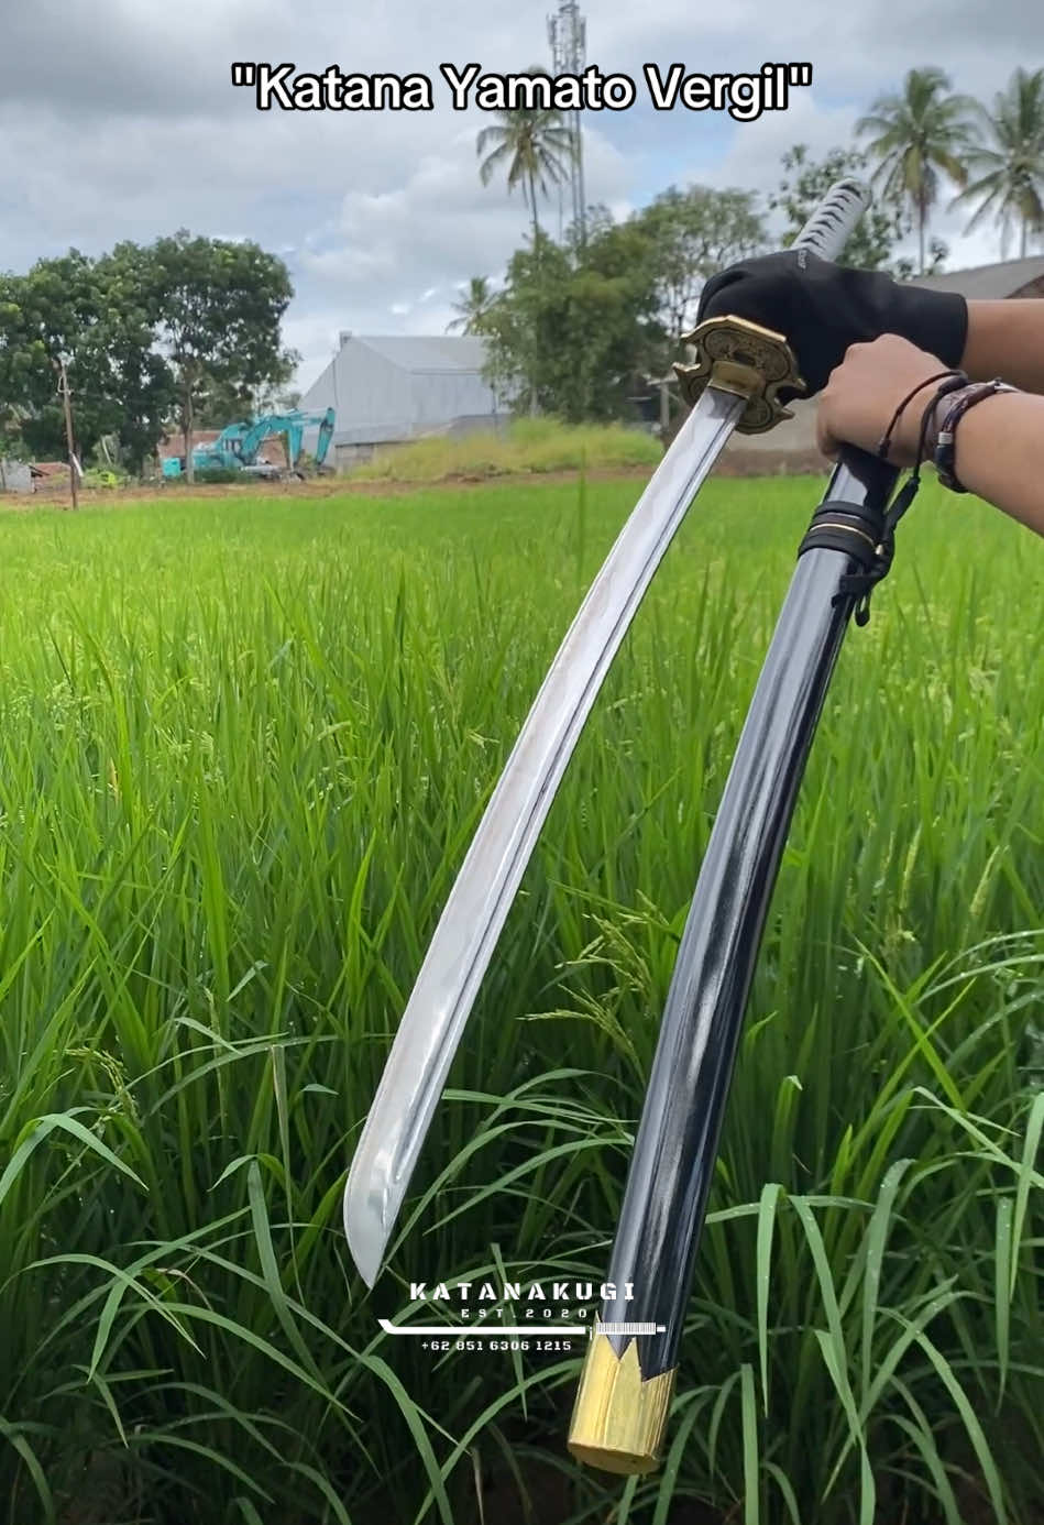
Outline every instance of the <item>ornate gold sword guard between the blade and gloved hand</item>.
{"label": "ornate gold sword guard between the blade and gloved hand", "polygon": [[674,368],[686,403],[695,406],[707,386],[747,398],[736,424],[741,435],[764,435],[794,416],[777,392],[783,386],[805,392],[806,383],[782,334],[745,317],[709,317],[683,339],[697,349],[692,364]]}

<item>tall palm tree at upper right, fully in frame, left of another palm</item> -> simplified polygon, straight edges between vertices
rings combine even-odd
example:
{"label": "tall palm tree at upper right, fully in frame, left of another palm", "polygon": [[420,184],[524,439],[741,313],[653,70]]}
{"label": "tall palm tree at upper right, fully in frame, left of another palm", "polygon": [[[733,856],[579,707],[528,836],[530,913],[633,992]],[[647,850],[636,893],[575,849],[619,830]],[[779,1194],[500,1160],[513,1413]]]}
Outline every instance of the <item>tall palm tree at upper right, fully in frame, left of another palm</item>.
{"label": "tall palm tree at upper right, fully in frame, left of another palm", "polygon": [[879,160],[873,181],[916,218],[922,274],[925,229],[939,198],[939,175],[963,188],[968,171],[960,156],[975,146],[972,120],[978,102],[951,95],[950,88],[942,69],[911,69],[901,95],[878,96],[869,116],[855,124],[860,136],[870,136],[867,151]]}

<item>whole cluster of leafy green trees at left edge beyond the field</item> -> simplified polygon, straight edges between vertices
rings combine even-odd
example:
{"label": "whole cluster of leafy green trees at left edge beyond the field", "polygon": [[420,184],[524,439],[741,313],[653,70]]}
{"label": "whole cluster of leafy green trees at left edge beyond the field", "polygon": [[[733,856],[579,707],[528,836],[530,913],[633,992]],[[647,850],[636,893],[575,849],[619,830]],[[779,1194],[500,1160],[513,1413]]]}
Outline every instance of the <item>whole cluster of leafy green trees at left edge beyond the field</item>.
{"label": "whole cluster of leafy green trees at left edge beyond the field", "polygon": [[227,422],[285,386],[297,358],[279,340],[290,296],[285,265],[256,244],[184,232],[0,276],[0,427],[37,458],[64,458],[66,354],[79,458],[111,435],[140,468],[172,412],[187,427],[200,409]]}

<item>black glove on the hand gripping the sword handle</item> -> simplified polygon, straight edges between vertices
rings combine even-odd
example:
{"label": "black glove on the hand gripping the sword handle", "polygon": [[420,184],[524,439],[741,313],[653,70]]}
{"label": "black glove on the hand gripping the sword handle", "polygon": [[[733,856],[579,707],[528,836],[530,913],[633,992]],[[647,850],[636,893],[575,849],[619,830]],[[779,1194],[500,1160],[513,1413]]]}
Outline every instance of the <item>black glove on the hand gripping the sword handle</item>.
{"label": "black glove on the hand gripping the sword handle", "polygon": [[[849,345],[899,334],[956,368],[968,339],[968,303],[954,291],[904,285],[882,271],[832,265],[806,249],[786,249],[712,276],[697,322],[745,317],[783,334],[812,396],[826,386]],[[780,400],[786,401],[785,389]]]}

